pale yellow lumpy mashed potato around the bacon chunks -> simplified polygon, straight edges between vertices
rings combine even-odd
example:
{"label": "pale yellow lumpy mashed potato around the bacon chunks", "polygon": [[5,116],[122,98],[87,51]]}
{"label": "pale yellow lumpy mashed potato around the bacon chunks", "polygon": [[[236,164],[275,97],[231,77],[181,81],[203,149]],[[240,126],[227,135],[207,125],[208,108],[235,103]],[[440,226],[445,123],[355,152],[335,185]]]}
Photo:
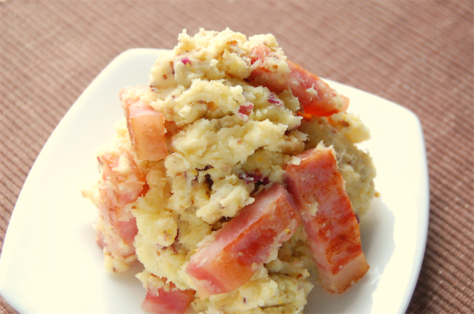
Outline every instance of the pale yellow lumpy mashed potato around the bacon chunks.
{"label": "pale yellow lumpy mashed potato around the bacon chunks", "polygon": [[[131,165],[137,165],[146,182],[134,199],[119,206],[126,214],[101,215],[98,241],[104,248],[106,269],[123,271],[138,259],[145,270],[137,277],[145,289],[156,292],[172,285],[198,290],[186,272],[191,256],[255,202],[262,190],[284,184],[284,167],[298,165],[297,156],[319,143],[334,147],[355,213],[362,216],[369,209],[375,170],[369,155],[355,146],[369,138],[360,119],[348,112],[309,117],[301,114],[304,108],[292,90],[273,92],[249,82],[258,63],[252,52],[262,43],[276,56],[265,66],[281,77],[288,75],[288,62],[274,36],[246,38],[229,29],[201,29],[195,36],[183,31],[178,39],[175,49],[163,52],[151,68],[149,88],[130,92],[135,98],[127,96],[161,113],[166,156],[138,158],[125,117],[117,122],[117,135],[98,154],[119,156],[117,165],[110,167],[117,178],[126,178],[117,179],[115,186],[121,191],[114,194],[119,204],[123,191],[131,190],[126,186],[129,176],[137,171]],[[108,179],[103,175],[102,186]],[[98,207],[104,204],[101,184],[84,191]],[[314,209],[316,214],[317,204]],[[118,241],[107,238],[117,221],[136,221],[135,255],[114,253],[110,243],[101,240]],[[310,273],[318,276],[305,237],[299,227],[265,263],[255,266],[244,285],[205,297],[195,293],[190,306],[207,314],[302,313],[313,287]]]}

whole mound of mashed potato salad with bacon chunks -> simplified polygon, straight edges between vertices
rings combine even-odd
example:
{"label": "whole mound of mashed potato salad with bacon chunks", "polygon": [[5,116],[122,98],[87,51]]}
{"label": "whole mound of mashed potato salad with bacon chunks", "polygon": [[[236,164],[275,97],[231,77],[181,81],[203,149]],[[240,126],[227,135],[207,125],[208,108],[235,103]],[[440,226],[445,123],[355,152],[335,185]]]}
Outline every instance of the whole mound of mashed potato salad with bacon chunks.
{"label": "whole mound of mashed potato salad with bacon chunks", "polygon": [[[271,34],[186,31],[98,153],[105,268],[135,262],[151,313],[302,313],[319,278],[345,291],[369,269],[358,218],[375,170],[349,100],[286,59]],[[319,284],[319,283],[318,283]]]}

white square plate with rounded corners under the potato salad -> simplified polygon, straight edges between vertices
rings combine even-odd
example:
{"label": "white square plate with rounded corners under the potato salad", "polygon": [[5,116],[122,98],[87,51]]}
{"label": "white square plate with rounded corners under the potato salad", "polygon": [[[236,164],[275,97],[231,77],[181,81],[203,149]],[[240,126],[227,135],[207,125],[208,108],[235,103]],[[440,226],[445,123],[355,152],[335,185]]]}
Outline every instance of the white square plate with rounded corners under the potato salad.
{"label": "white square plate with rounded corners under the potato salad", "polygon": [[[40,152],[18,197],[0,261],[0,292],[20,313],[145,313],[134,277],[107,274],[80,186],[98,177],[94,151],[121,117],[118,91],[147,84],[159,50],[128,50],[87,87]],[[369,272],[341,295],[318,285],[304,313],[405,313],[427,239],[429,193],[420,121],[412,112],[352,87],[329,84],[371,128],[364,143],[380,192],[362,220]]]}

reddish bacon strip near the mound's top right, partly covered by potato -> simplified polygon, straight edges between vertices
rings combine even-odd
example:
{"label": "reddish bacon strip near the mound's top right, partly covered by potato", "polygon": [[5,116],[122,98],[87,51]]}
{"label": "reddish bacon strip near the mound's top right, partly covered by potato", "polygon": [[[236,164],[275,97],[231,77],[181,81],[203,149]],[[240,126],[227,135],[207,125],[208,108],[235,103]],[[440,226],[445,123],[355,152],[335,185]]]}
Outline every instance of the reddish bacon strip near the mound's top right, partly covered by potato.
{"label": "reddish bacon strip near the mound's top right, partly covered by potato", "polygon": [[304,70],[296,63],[287,60],[290,73],[279,74],[272,71],[268,59],[276,57],[276,54],[264,44],[260,44],[251,50],[251,61],[253,70],[248,77],[251,84],[268,87],[276,94],[290,89],[292,94],[299,100],[305,114],[316,116],[329,116],[331,114],[345,111],[349,105],[346,97],[339,96],[329,85],[317,75]]}

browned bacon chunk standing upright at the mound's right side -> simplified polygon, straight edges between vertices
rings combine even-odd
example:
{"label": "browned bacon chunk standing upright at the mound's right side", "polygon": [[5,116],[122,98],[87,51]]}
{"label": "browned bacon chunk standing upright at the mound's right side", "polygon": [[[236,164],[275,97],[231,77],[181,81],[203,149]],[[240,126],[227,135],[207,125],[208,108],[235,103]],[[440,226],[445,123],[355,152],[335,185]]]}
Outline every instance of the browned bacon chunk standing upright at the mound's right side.
{"label": "browned bacon chunk standing upright at the mound's right side", "polygon": [[334,155],[334,149],[319,146],[305,151],[298,156],[302,160],[299,165],[286,167],[285,183],[302,209],[304,230],[323,287],[342,293],[364,276],[369,265]]}

